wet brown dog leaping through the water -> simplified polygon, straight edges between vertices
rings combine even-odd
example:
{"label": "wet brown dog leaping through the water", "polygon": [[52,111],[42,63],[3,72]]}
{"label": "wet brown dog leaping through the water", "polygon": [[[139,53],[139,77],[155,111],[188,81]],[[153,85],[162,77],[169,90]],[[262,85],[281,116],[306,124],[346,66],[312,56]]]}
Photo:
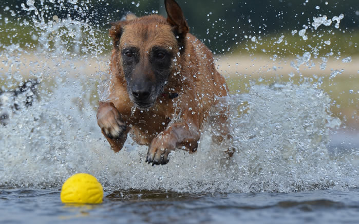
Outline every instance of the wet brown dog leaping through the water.
{"label": "wet brown dog leaping through the water", "polygon": [[[112,24],[110,95],[97,113],[115,152],[129,133],[149,146],[146,161],[152,165],[166,164],[176,148],[195,152],[210,108],[228,94],[211,51],[188,33],[179,5],[164,2],[167,18],[131,14]],[[225,136],[226,116],[215,119]]]}

